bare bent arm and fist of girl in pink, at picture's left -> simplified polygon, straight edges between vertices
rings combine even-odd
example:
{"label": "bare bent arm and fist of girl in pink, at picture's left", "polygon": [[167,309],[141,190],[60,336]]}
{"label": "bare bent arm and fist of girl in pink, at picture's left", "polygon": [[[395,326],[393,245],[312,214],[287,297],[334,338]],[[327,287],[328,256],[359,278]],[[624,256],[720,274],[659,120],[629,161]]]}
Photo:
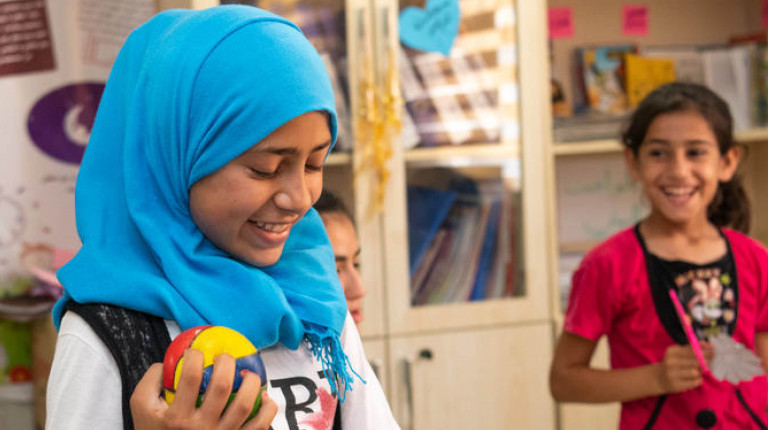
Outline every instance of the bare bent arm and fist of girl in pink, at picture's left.
{"label": "bare bent arm and fist of girl in pink, at picture's left", "polygon": [[596,341],[566,331],[560,336],[550,369],[550,390],[555,400],[625,402],[701,385],[701,369],[689,346],[670,346],[660,363],[603,370],[589,365],[596,345]]}

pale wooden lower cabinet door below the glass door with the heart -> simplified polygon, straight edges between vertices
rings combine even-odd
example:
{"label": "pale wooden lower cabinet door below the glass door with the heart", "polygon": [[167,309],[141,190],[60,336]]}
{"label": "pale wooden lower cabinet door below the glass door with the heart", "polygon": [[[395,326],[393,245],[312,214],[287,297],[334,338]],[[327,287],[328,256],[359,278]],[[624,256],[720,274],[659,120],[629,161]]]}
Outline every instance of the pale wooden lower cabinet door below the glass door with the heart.
{"label": "pale wooden lower cabinet door below the glass door with the heart", "polygon": [[552,429],[548,324],[391,341],[390,403],[404,429]]}

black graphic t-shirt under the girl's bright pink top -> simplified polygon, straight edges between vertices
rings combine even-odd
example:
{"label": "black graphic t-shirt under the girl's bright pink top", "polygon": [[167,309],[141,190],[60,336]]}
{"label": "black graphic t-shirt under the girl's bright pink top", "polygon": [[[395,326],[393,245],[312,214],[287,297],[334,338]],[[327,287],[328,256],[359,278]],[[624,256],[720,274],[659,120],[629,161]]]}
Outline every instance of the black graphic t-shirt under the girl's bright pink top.
{"label": "black graphic t-shirt under the girl's bright pink top", "polygon": [[669,299],[669,290],[677,293],[698,339],[708,340],[720,333],[732,336],[736,327],[738,283],[733,253],[725,236],[722,236],[727,248],[725,255],[707,264],[695,264],[666,260],[650,253],[637,227],[635,233],[645,253],[656,312],[672,338],[679,344],[688,343]]}

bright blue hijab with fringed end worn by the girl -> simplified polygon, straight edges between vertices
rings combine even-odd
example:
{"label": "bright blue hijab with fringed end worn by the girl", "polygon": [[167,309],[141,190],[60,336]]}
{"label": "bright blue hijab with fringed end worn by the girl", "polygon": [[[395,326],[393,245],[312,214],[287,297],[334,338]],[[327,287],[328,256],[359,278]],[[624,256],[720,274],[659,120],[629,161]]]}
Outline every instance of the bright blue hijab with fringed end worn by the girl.
{"label": "bright blue hijab with fringed end worn by the girl", "polygon": [[[280,260],[253,267],[206,239],[189,189],[282,124],[324,111],[323,62],[291,22],[249,6],[160,13],[120,51],[77,179],[82,248],[58,272],[66,301],[109,303],[231,327],[257,348],[306,339],[333,391],[350,388],[339,335],[346,302],[322,221],[311,209]],[[339,384],[338,387],[334,386]]]}

